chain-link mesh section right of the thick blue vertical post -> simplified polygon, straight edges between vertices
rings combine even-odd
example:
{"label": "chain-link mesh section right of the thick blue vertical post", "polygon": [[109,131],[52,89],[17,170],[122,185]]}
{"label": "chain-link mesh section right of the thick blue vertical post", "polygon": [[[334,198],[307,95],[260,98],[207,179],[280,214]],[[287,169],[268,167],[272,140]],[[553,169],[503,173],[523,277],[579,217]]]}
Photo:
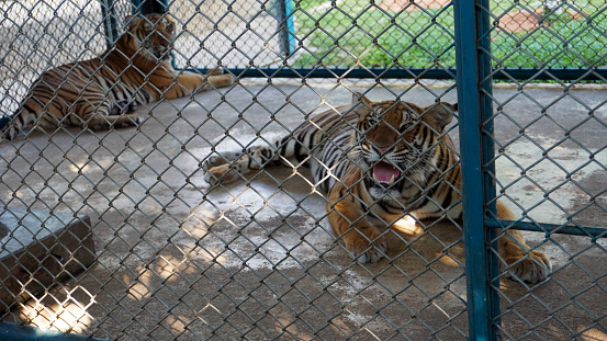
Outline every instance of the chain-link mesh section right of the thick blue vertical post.
{"label": "chain-link mesh section right of the thick blue vertical post", "polygon": [[[605,64],[599,47],[605,32],[595,24],[604,21],[606,9],[598,1],[495,2],[491,10],[481,9],[493,21],[491,58],[496,73],[512,80],[515,66],[538,68],[548,70],[554,83],[530,87],[536,73],[485,93],[495,109],[493,124],[499,127],[488,136],[496,149],[491,163],[497,170],[492,175],[497,197],[516,207],[520,221],[543,231],[527,236],[555,264],[551,280],[542,285],[513,289],[502,281],[493,287],[502,308],[494,325],[504,339],[607,336],[605,269],[596,263],[605,258],[602,237],[607,235],[603,152],[607,145],[595,138],[605,129],[605,100],[594,92],[604,91],[604,84],[593,87],[584,77],[559,79],[551,73],[578,68],[588,78],[604,80],[596,69]],[[533,46],[542,46],[541,52]],[[542,223],[550,224],[550,230]],[[503,276],[504,272],[498,275]]]}

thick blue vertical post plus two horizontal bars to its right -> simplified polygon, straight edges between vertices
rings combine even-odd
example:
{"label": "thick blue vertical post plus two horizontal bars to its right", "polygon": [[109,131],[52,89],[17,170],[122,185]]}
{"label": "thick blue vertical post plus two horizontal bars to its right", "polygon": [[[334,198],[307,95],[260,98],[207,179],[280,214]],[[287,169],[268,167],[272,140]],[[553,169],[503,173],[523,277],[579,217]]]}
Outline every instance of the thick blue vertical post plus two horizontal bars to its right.
{"label": "thick blue vertical post plus two horizontal bars to its right", "polygon": [[[494,70],[491,64],[491,24],[488,0],[453,0],[456,22],[457,87],[459,102],[460,162],[462,170],[465,276],[468,286],[469,338],[498,340],[499,280],[497,228],[553,234],[607,237],[607,229],[562,225],[508,221],[496,217],[495,151],[493,136],[493,79],[527,78],[561,80],[603,79],[596,69],[578,70]],[[552,75],[552,76],[551,76]],[[502,76],[502,77],[501,77]],[[549,77],[549,78],[543,78]],[[594,78],[596,77],[596,78]],[[482,179],[482,181],[479,181]],[[495,242],[494,242],[495,243]]]}

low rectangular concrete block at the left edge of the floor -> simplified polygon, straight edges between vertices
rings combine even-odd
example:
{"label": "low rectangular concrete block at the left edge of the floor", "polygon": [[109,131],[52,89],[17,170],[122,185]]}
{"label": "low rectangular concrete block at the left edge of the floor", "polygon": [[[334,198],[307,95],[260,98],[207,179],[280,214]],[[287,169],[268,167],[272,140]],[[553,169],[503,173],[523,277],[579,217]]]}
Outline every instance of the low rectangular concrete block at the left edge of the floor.
{"label": "low rectangular concrete block at the left edge of the floor", "polygon": [[90,218],[65,213],[0,212],[0,246],[2,309],[76,277],[95,259]]}

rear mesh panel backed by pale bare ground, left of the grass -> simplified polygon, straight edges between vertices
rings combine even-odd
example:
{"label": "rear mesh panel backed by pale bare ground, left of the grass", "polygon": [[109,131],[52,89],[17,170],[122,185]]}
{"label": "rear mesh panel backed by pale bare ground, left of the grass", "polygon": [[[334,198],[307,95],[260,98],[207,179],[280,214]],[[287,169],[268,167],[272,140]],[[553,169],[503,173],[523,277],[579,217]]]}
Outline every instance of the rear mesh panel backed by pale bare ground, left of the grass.
{"label": "rear mesh panel backed by pale bare ground, left of the grass", "polygon": [[183,23],[179,67],[221,62],[226,68],[266,68],[282,62],[274,1],[176,1],[170,9]]}

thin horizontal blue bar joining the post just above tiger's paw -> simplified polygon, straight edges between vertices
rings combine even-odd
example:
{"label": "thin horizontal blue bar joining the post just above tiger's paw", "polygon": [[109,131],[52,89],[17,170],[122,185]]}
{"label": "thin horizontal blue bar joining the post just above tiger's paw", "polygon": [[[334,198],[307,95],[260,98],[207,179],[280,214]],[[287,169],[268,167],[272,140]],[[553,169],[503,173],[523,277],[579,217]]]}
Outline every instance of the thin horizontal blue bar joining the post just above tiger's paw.
{"label": "thin horizontal blue bar joining the post just above tiger's paw", "polygon": [[558,225],[547,223],[512,221],[501,219],[485,219],[485,225],[491,228],[520,229],[526,231],[543,232],[547,235],[562,234],[584,236],[593,238],[607,238],[607,228],[586,227],[575,225]]}

